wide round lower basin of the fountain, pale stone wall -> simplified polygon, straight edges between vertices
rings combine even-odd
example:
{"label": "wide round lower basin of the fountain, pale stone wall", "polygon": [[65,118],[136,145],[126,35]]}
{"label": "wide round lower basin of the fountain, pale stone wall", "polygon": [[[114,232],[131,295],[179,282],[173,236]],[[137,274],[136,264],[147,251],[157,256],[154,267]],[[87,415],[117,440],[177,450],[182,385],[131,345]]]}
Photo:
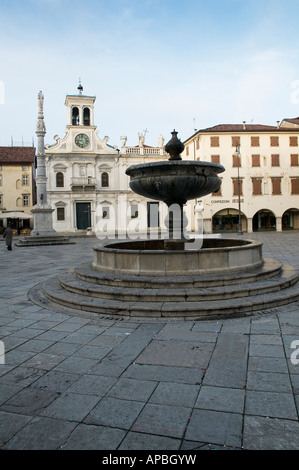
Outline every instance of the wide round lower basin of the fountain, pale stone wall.
{"label": "wide round lower basin of the fountain, pale stone wall", "polygon": [[95,246],[92,266],[107,273],[140,276],[196,276],[252,270],[263,265],[262,243],[204,238],[201,248],[166,250],[164,240],[112,242]]}

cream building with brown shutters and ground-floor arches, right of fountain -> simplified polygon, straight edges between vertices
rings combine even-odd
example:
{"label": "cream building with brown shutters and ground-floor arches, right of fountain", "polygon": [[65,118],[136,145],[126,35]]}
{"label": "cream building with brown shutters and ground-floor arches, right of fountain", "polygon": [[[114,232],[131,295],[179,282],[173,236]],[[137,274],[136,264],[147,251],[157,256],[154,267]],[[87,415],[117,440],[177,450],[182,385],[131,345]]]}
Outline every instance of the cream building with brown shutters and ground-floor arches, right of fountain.
{"label": "cream building with brown shutters and ground-floor arches, right of fountain", "polygon": [[217,125],[184,144],[184,159],[225,168],[219,192],[191,202],[192,230],[202,204],[205,233],[237,231],[239,203],[243,232],[299,229],[299,118],[276,126]]}

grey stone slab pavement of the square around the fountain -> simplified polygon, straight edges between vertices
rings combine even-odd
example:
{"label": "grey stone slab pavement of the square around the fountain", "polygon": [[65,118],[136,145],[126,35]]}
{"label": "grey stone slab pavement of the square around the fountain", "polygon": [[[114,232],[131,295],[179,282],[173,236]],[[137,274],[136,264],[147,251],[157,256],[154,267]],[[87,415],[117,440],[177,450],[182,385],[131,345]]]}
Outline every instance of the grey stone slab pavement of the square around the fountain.
{"label": "grey stone slab pavement of the square around the fountain", "polygon": [[[299,269],[298,231],[244,238]],[[36,284],[91,260],[96,243],[8,252],[0,242],[0,447],[298,450],[298,303],[163,323],[29,300]]]}

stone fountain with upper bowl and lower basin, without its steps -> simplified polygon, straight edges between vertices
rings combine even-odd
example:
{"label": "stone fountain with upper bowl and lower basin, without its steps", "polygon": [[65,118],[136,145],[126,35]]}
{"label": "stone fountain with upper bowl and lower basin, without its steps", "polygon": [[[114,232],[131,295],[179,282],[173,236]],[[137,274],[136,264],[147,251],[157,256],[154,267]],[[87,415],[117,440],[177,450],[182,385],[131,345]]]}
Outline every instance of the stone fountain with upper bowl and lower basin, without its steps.
{"label": "stone fountain with upper bowl and lower basin, without its steps", "polygon": [[168,161],[133,165],[126,170],[135,193],[168,206],[165,220],[168,236],[162,240],[117,242],[95,248],[94,269],[176,276],[261,266],[261,243],[186,236],[188,221],[184,205],[190,199],[217,192],[221,185],[218,174],[225,169],[217,163],[182,160],[184,144],[175,130],[171,134],[172,139],[165,146],[170,155]]}

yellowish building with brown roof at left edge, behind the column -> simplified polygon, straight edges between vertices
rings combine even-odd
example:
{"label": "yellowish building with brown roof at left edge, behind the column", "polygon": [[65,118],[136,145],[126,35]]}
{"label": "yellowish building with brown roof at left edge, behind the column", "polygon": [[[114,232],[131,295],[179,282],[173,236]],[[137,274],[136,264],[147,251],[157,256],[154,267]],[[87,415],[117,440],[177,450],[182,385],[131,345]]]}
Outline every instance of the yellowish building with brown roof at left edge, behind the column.
{"label": "yellowish building with brown roof at left edge, behind the column", "polygon": [[0,147],[0,227],[15,232],[32,228],[35,204],[35,148]]}

